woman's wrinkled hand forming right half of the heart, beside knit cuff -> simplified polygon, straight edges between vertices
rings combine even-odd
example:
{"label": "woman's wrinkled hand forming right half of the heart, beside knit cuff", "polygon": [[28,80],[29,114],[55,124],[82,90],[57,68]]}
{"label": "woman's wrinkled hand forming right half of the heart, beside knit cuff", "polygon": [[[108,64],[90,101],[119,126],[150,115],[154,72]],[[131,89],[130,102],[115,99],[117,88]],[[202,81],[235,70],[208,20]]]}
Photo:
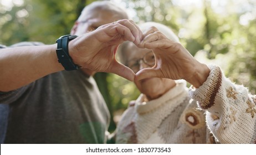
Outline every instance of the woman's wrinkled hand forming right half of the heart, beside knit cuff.
{"label": "woman's wrinkled hand forming right half of the heart, beside knit cuff", "polygon": [[144,39],[137,46],[152,49],[156,63],[153,68],[140,70],[135,81],[149,77],[165,77],[173,80],[185,79],[194,87],[199,87],[209,75],[205,64],[199,63],[180,43],[167,39],[155,27],[144,34]]}

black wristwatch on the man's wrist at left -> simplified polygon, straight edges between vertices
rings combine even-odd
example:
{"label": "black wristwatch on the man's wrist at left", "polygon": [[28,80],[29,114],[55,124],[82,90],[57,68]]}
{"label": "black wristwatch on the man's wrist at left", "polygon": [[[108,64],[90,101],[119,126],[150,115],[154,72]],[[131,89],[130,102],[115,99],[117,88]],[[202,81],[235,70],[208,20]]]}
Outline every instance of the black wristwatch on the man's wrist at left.
{"label": "black wristwatch on the man's wrist at left", "polygon": [[78,37],[77,35],[63,35],[59,39],[56,40],[57,49],[56,53],[58,56],[58,61],[63,65],[65,70],[76,70],[81,68],[80,66],[74,64],[71,57],[69,56],[69,48],[68,44],[70,40]]}

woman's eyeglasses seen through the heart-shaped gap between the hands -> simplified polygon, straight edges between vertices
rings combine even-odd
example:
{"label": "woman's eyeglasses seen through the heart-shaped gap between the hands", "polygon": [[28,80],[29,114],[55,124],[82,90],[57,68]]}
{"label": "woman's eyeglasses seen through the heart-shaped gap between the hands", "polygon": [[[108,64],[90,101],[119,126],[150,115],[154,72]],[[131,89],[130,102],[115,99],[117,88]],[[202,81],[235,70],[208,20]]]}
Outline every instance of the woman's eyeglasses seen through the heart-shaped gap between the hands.
{"label": "woman's eyeglasses seen through the heart-shaped gap between the hands", "polygon": [[141,59],[132,59],[131,61],[128,61],[128,67],[134,71],[134,73],[137,73],[140,70],[141,63],[144,63],[148,65],[149,67],[152,67],[155,65],[155,55],[152,51],[149,51],[146,53]]}

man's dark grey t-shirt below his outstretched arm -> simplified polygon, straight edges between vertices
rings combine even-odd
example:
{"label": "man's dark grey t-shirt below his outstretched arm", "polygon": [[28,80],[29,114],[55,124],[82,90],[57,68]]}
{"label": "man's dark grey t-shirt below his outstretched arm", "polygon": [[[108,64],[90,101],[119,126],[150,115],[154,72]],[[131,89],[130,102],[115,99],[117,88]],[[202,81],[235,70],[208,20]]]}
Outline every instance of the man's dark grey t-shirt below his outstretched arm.
{"label": "man's dark grey t-shirt below his outstretched arm", "polygon": [[94,78],[81,70],[59,71],[0,92],[0,112],[0,142],[106,142],[109,111]]}

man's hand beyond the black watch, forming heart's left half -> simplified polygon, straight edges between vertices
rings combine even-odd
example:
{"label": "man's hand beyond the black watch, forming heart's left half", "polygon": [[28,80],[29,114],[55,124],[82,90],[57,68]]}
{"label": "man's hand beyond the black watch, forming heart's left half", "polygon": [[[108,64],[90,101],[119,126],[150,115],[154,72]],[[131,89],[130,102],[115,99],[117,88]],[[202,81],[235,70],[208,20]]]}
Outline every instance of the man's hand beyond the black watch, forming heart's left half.
{"label": "man's hand beyond the black watch, forming heart's left half", "polygon": [[72,40],[69,44],[70,56],[75,64],[83,68],[114,73],[133,81],[134,72],[118,63],[115,54],[122,42],[128,40],[137,45],[141,39],[142,32],[132,20],[119,20]]}

